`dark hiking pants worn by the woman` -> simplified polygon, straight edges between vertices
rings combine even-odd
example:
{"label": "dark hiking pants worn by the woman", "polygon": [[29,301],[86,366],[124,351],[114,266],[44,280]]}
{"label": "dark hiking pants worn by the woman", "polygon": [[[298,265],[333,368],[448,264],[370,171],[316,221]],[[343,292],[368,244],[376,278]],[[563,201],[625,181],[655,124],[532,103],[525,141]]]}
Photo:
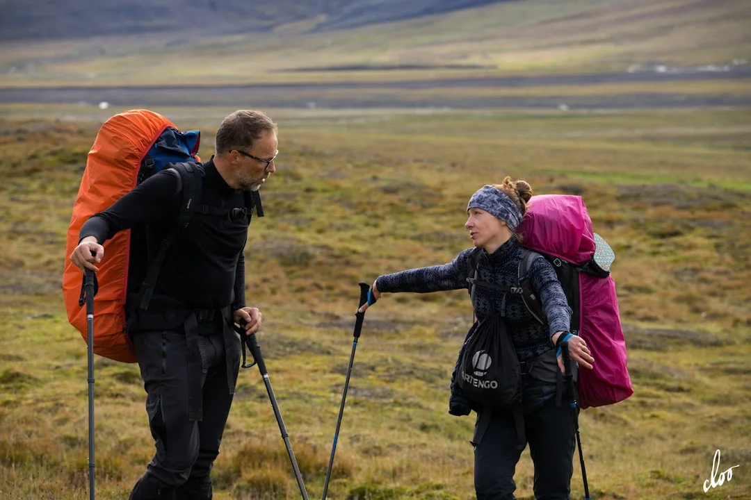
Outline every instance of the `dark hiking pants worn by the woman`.
{"label": "dark hiking pants worn by the woman", "polygon": [[[535,499],[568,500],[574,472],[574,420],[567,391],[556,406],[555,385],[525,385],[524,430],[535,464]],[[487,411],[487,410],[483,410]],[[478,415],[478,424],[482,414]],[[478,436],[475,434],[475,443]],[[514,499],[514,470],[526,446],[517,436],[511,412],[492,412],[475,446],[478,500]]]}

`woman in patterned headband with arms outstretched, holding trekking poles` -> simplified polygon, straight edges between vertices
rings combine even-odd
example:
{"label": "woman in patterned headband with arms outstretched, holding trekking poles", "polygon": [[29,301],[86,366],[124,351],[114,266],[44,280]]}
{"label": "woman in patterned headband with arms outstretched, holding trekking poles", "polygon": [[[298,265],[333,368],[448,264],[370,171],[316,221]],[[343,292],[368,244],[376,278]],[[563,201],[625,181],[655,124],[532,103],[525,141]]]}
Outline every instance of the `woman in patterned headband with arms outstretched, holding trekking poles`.
{"label": "woman in patterned headband with arms outstretched, holding trekking poles", "polygon": [[[561,392],[565,389],[556,373],[563,370],[560,355],[556,358],[556,341],[568,337],[571,358],[579,366],[591,370],[594,362],[587,343],[569,334],[572,311],[556,272],[543,257],[532,262],[529,274],[541,299],[547,324],[538,322],[529,313],[521,295],[479,285],[480,282],[493,283],[505,289],[519,286],[517,272],[525,250],[515,231],[531,197],[529,184],[507,177],[502,184],[481,187],[467,205],[469,218],[464,226],[475,247],[482,249],[477,251],[475,261],[478,273],[475,280],[478,286],[474,290],[475,315],[478,322],[483,322],[505,308],[505,328],[523,372],[523,433],[517,432],[517,422],[510,410],[490,411],[463,398],[454,380],[456,371],[452,376],[451,413],[469,415],[469,408],[478,412],[472,442],[475,445],[475,493],[479,500],[514,498],[514,469],[527,442],[535,464],[535,498],[569,499],[575,430],[569,406],[561,404]],[[388,292],[426,293],[467,288],[467,261],[472,250],[463,250],[446,265],[379,276],[370,292],[377,300]],[[368,304],[364,304],[360,311],[364,312],[367,307]],[[466,403],[463,405],[462,401]]]}

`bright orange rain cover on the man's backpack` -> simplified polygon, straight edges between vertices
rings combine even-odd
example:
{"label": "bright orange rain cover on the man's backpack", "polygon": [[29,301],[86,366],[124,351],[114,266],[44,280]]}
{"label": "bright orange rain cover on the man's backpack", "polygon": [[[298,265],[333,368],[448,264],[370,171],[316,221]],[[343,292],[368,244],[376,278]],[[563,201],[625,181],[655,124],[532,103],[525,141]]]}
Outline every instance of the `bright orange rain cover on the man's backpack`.
{"label": "bright orange rain cover on the man's backpack", "polygon": [[[125,111],[102,124],[89,151],[68,227],[62,276],[68,322],[84,341],[87,339],[86,304],[78,304],[83,273],[70,259],[78,244],[81,226],[136,186],[141,160],[167,127],[174,125],[158,113],[146,109]],[[99,289],[94,297],[94,353],[124,363],[137,361],[125,335],[130,241],[128,229],[104,243],[104,259],[97,266]]]}

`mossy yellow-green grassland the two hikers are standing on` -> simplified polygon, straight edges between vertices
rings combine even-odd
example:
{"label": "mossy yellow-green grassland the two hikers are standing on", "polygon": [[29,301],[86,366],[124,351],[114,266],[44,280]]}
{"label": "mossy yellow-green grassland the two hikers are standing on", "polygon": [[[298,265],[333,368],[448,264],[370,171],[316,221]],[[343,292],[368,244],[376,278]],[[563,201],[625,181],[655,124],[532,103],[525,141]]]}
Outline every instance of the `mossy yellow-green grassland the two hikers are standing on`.
{"label": "mossy yellow-green grassland the two hikers are standing on", "polygon": [[[578,4],[580,2],[572,2]],[[732,4],[732,2],[727,2]],[[159,109],[204,133],[230,109]],[[0,113],[0,499],[86,497],[86,346],[62,304],[65,232],[98,123],[116,109]],[[587,409],[595,499],[751,499],[751,115],[650,112],[267,110],[279,122],[266,217],[246,249],[249,303],[311,498],[321,495],[357,283],[448,262],[464,208],[505,175],[584,196],[614,247],[635,394]],[[448,382],[466,292],[388,295],[357,348],[332,499],[470,499],[472,418]],[[97,358],[98,498],[126,499],[152,456],[137,367]],[[704,494],[715,451],[733,478]],[[294,499],[258,372],[240,375],[217,499]],[[532,499],[532,463],[517,467]],[[583,497],[575,460],[574,498]]]}

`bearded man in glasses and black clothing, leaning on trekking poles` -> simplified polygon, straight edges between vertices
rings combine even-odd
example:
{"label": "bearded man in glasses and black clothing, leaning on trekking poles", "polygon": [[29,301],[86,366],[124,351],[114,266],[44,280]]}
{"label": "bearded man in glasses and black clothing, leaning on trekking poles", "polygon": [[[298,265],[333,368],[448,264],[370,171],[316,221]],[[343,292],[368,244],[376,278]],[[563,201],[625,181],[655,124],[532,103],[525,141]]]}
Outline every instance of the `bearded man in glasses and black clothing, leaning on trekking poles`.
{"label": "bearded man in glasses and black clothing, leaning on trekking poles", "polygon": [[[148,309],[128,316],[156,448],[131,500],[212,498],[210,472],[240,364],[231,324],[245,325],[246,334],[261,328],[261,313],[245,302],[243,248],[253,208],[246,200],[276,171],[276,131],[253,110],[222,121],[216,154],[198,165],[198,210],[172,241]],[[104,241],[144,225],[152,260],[182,204],[182,182],[173,173],[158,172],[89,218],[71,254],[74,265],[98,271]]]}

